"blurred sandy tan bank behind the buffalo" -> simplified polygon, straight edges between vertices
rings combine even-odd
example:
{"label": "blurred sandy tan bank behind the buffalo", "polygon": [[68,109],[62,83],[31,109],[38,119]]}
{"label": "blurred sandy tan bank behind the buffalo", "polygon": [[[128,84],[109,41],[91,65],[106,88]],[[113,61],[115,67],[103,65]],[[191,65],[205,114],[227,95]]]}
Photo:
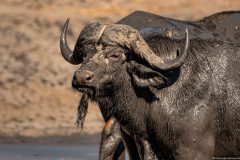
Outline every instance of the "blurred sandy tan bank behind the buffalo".
{"label": "blurred sandy tan bank behind the buffalo", "polygon": [[1,0],[0,144],[98,144],[103,120],[95,104],[84,130],[76,127],[81,95],[71,88],[76,66],[60,55],[60,30],[70,17],[68,42],[73,48],[86,24],[114,23],[136,10],[198,20],[240,10],[240,1]]}

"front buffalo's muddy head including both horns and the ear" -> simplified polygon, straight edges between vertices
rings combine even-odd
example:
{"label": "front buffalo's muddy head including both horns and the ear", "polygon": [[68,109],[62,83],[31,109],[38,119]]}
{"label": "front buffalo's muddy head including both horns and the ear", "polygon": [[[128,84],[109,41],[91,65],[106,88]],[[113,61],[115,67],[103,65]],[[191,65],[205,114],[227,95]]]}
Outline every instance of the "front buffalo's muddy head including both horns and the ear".
{"label": "front buffalo's muddy head including both horns and the ear", "polygon": [[106,88],[109,91],[107,94],[111,94],[110,88],[114,88],[114,83],[126,78],[121,76],[123,73],[128,73],[129,78],[139,86],[161,88],[166,83],[166,77],[161,73],[180,68],[189,51],[187,30],[182,52],[177,58],[165,62],[134,28],[99,22],[91,23],[82,30],[72,51],[66,40],[68,23],[69,19],[60,38],[61,54],[71,64],[82,64],[74,73],[72,86],[90,97]]}

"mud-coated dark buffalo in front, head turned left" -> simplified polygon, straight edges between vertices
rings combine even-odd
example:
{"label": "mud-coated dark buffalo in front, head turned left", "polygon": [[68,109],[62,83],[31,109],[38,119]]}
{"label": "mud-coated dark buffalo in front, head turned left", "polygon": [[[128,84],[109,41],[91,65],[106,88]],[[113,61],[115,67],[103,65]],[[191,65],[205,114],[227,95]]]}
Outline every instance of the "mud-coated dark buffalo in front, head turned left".
{"label": "mud-coated dark buffalo in front, head turned left", "polygon": [[[136,30],[128,26],[103,25],[101,23],[91,25],[85,27],[81,33],[72,56],[66,56],[72,52],[67,46],[62,45],[62,53],[67,53],[65,58],[70,63],[77,64],[83,61],[82,67],[76,71],[73,79],[75,88],[98,101],[100,108],[116,117],[129,134],[135,135],[139,139],[143,137],[144,140],[150,142],[158,157],[194,159],[193,157],[199,158],[198,156],[200,156],[199,159],[209,159],[211,150],[209,153],[205,153],[204,150],[207,147],[203,148],[203,145],[208,144],[208,142],[201,140],[216,140],[216,143],[212,143],[219,149],[218,147],[223,143],[219,140],[226,139],[226,137],[233,138],[233,140],[237,139],[234,141],[236,142],[235,150],[229,149],[229,153],[231,155],[239,154],[239,144],[237,144],[239,139],[236,137],[239,132],[237,131],[239,129],[239,114],[237,112],[235,117],[230,117],[229,115],[233,113],[226,112],[226,115],[224,113],[223,116],[222,111],[220,111],[221,109],[231,111],[234,107],[235,111],[239,111],[239,108],[236,107],[239,102],[233,104],[231,99],[219,100],[221,96],[233,96],[233,89],[229,88],[228,84],[221,86],[219,85],[221,82],[218,84],[216,81],[219,80],[218,74],[221,73],[219,70],[230,72],[220,77],[220,81],[233,81],[236,93],[239,93],[239,85],[237,86],[239,80],[236,78],[239,78],[239,71],[236,68],[239,59],[231,59],[234,52],[239,52],[238,46],[214,40],[193,39],[188,53],[186,38],[185,50],[176,59],[170,60],[175,57],[174,51],[181,50],[183,47],[181,40],[172,40],[156,34],[145,36],[145,40],[143,40]],[[65,44],[64,39],[62,39],[62,44]],[[93,49],[93,51],[89,52],[89,49]],[[108,51],[106,52],[106,50]],[[230,55],[226,52],[229,52]],[[207,56],[207,53],[210,55]],[[114,55],[115,61],[111,54]],[[110,57],[108,57],[109,55]],[[223,56],[221,58],[226,60],[224,61],[216,55],[221,55]],[[165,62],[165,60],[169,61]],[[226,65],[223,69],[221,61]],[[116,66],[118,68],[114,70]],[[219,69],[215,69],[216,66]],[[116,73],[119,74],[114,77],[113,75]],[[211,73],[213,75],[215,73],[216,76]],[[207,83],[207,81],[209,82]],[[123,88],[127,87],[130,91],[127,92],[123,88],[119,88],[119,84]],[[185,91],[190,92],[185,93]],[[109,96],[109,92],[114,94]],[[127,93],[126,95],[129,97],[118,97],[120,93]],[[185,96],[181,93],[185,93]],[[235,96],[236,93],[234,92]],[[234,100],[237,101],[237,98],[232,99],[232,101]],[[146,117],[144,121],[137,116],[136,111],[132,112],[136,110],[136,107],[139,108],[139,114],[144,115],[144,119]],[[119,113],[124,113],[125,118],[133,123],[126,124],[126,119],[123,120]],[[156,113],[161,116],[156,115]],[[210,117],[211,114],[213,117]],[[226,123],[229,122],[230,118],[236,120],[235,131],[232,129],[233,124],[229,127]],[[135,124],[136,120],[144,122],[142,125],[145,126]],[[187,120],[193,122],[188,124]],[[198,120],[204,122],[196,123]],[[226,132],[231,134],[223,134]],[[213,148],[213,146],[209,148],[211,147]],[[199,152],[195,153],[196,149]],[[213,153],[214,151],[212,151]]]}

